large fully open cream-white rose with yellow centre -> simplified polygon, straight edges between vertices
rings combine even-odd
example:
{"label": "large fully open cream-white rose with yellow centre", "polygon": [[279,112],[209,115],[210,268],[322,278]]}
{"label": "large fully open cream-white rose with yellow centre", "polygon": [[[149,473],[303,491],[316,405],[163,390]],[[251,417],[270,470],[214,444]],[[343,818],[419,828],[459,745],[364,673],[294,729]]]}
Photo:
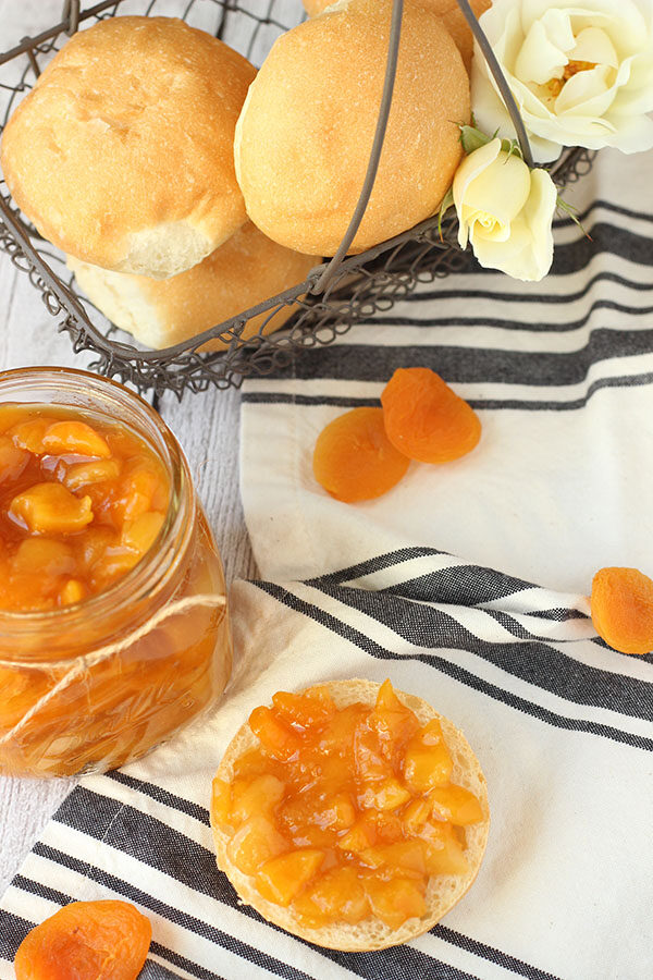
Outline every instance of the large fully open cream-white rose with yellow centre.
{"label": "large fully open cream-white rose with yellow centre", "polygon": [[[481,17],[538,162],[563,146],[653,146],[651,0],[494,0]],[[471,108],[485,133],[515,131],[478,46]]]}

